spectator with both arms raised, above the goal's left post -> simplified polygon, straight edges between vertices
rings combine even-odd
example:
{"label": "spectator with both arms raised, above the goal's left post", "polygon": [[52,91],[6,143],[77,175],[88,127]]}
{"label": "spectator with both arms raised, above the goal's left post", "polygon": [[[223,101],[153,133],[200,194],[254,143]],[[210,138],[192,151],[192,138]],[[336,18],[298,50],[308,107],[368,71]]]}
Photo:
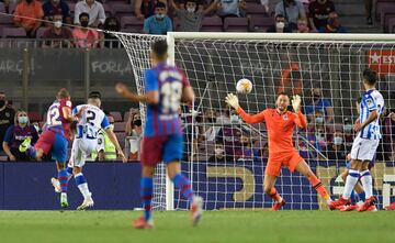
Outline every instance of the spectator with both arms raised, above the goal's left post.
{"label": "spectator with both arms raised, above the goal's left post", "polygon": [[198,5],[196,0],[187,0],[185,4],[180,4],[180,8],[174,3],[174,0],[170,0],[170,3],[180,21],[179,31],[184,32],[199,32],[204,15],[213,11],[217,5],[216,0],[206,9],[203,9],[203,5]]}

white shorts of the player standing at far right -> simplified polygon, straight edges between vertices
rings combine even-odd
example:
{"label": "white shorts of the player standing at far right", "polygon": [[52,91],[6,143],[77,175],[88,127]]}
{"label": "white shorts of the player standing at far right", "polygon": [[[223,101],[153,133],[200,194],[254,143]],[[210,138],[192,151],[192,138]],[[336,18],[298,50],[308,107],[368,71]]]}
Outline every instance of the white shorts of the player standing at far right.
{"label": "white shorts of the player standing at far right", "polygon": [[372,161],[376,153],[379,142],[379,140],[366,140],[358,135],[352,143],[351,159],[362,162]]}

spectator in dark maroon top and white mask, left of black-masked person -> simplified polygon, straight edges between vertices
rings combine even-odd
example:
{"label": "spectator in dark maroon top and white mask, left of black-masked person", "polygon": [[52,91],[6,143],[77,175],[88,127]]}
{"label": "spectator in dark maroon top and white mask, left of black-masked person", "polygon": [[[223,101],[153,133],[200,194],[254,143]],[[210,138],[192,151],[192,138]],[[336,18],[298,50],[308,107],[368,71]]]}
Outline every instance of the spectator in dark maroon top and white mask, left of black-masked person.
{"label": "spectator in dark maroon top and white mask, left of black-masked person", "polygon": [[[63,26],[63,16],[57,14],[53,16],[54,23],[43,34],[42,38],[46,38],[43,42],[43,47],[70,47],[72,40],[72,32],[70,29]],[[59,40],[59,41],[55,41]]]}

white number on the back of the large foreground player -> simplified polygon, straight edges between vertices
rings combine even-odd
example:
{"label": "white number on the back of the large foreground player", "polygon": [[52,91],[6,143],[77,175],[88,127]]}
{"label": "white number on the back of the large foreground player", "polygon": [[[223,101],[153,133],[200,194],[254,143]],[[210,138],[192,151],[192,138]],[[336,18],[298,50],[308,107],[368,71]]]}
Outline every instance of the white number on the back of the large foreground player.
{"label": "white number on the back of the large foreground player", "polygon": [[174,113],[180,108],[182,84],[179,81],[166,82],[161,87],[162,112]]}

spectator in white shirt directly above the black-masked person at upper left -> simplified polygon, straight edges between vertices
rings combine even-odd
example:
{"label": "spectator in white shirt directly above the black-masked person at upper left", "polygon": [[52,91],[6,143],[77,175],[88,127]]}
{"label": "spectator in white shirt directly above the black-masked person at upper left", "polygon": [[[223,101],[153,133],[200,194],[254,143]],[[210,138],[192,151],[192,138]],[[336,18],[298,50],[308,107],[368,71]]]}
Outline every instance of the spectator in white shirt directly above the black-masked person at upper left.
{"label": "spectator in white shirt directly above the black-masked person at upper left", "polygon": [[105,21],[105,12],[102,3],[95,0],[83,0],[76,4],[75,8],[75,24],[81,24],[80,14],[88,13],[88,26],[98,27]]}

